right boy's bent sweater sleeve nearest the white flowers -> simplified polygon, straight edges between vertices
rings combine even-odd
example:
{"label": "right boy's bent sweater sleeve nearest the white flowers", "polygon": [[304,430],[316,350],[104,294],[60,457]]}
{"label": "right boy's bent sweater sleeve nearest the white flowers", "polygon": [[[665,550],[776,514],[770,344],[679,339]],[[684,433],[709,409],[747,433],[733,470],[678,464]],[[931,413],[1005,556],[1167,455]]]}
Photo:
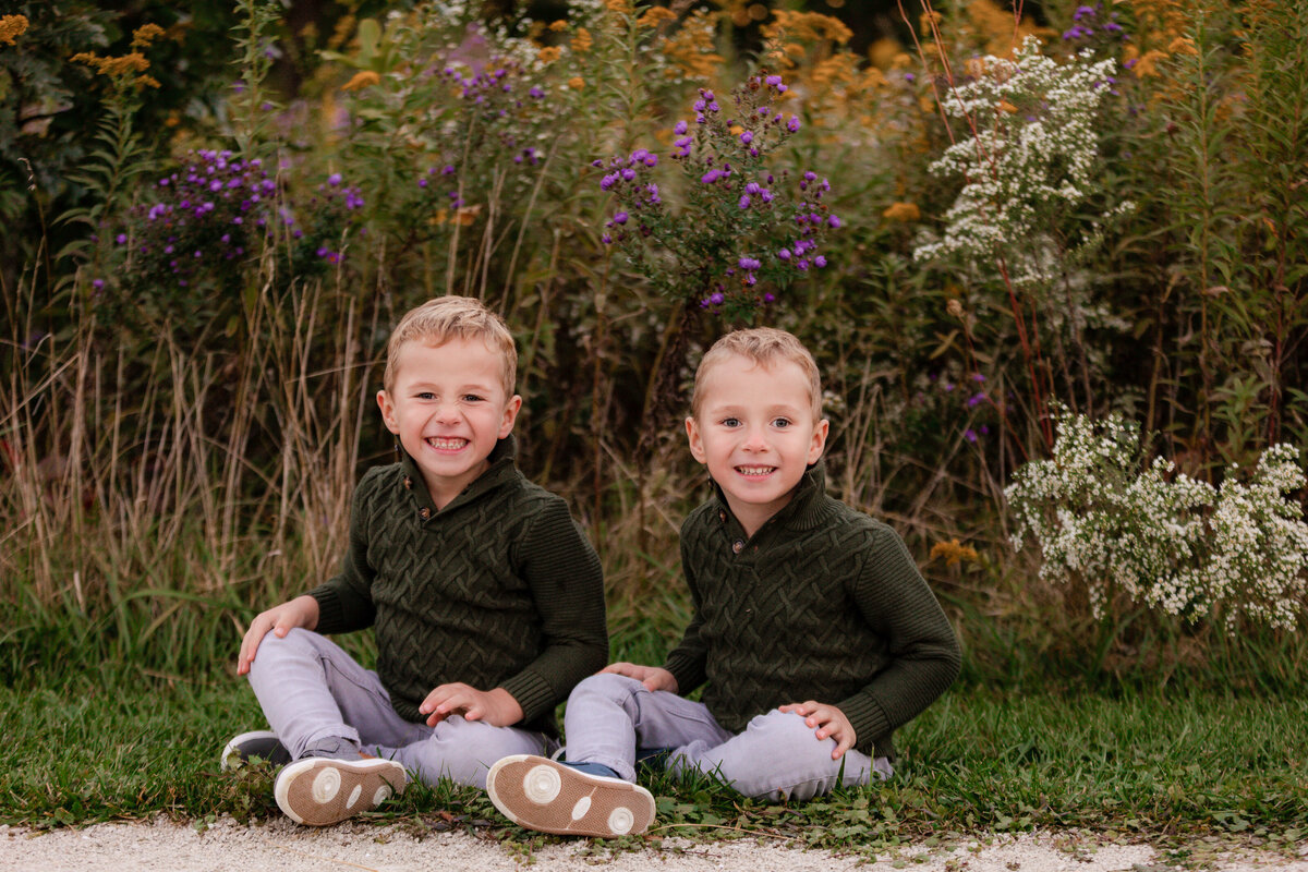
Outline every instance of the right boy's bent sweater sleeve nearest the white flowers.
{"label": "right boy's bent sweater sleeve nearest the white flowers", "polygon": [[852,594],[863,617],[888,641],[891,662],[862,690],[836,703],[862,746],[917,716],[944,693],[961,665],[954,628],[899,533],[878,526],[871,540]]}

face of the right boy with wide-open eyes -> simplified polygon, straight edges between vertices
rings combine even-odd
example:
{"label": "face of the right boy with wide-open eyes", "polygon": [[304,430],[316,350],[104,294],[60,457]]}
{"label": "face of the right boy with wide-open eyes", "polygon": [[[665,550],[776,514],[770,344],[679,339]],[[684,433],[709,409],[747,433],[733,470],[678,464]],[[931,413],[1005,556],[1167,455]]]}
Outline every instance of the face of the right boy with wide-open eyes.
{"label": "face of the right boy with wide-open eyes", "polygon": [[765,366],[731,356],[704,382],[698,417],[685,420],[691,454],[752,536],[821,456],[828,424],[814,418],[808,378],[791,361]]}

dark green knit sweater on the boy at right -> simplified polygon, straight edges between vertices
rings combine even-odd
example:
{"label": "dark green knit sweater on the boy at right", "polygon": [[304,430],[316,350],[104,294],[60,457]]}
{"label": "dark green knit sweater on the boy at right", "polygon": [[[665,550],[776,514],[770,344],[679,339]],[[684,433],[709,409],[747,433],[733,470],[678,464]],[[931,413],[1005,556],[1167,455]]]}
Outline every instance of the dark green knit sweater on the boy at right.
{"label": "dark green knit sweater on the boy at right", "polygon": [[828,497],[821,467],[749,539],[721,490],[681,527],[695,617],[667,668],[726,729],[790,702],[837,706],[863,753],[959,673],[957,638],[904,541]]}

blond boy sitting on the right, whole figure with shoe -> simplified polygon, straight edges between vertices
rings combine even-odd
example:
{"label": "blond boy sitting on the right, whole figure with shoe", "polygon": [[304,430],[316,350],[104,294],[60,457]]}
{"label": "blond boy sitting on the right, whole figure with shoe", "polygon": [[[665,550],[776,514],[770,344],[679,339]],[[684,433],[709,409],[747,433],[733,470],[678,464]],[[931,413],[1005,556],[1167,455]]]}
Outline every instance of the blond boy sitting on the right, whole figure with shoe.
{"label": "blond boy sitting on the right, whole figure with shoe", "polygon": [[[730,333],[704,356],[685,431],[713,497],[681,527],[695,616],[662,667],[615,663],[568,698],[568,761],[514,754],[487,791],[548,833],[640,833],[641,749],[675,775],[803,800],[893,773],[892,735],[956,677],[954,629],[899,535],[828,497],[829,425],[790,333]],[[704,685],[702,702],[684,694]]]}

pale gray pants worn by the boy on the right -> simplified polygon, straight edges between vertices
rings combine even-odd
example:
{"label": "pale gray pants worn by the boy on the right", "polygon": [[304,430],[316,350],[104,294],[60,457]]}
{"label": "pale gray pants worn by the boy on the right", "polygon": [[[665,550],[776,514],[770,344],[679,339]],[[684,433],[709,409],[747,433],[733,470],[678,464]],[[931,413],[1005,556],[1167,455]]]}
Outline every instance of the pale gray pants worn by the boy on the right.
{"label": "pale gray pants worn by the boy on the right", "polygon": [[746,796],[773,803],[893,774],[887,758],[853,749],[832,760],[836,740],[819,740],[797,714],[773,710],[734,735],[704,703],[646,690],[621,675],[594,675],[578,684],[568,697],[564,724],[570,762],[602,763],[625,780],[636,780],[637,748],[671,748],[667,769],[674,775],[713,775]]}

